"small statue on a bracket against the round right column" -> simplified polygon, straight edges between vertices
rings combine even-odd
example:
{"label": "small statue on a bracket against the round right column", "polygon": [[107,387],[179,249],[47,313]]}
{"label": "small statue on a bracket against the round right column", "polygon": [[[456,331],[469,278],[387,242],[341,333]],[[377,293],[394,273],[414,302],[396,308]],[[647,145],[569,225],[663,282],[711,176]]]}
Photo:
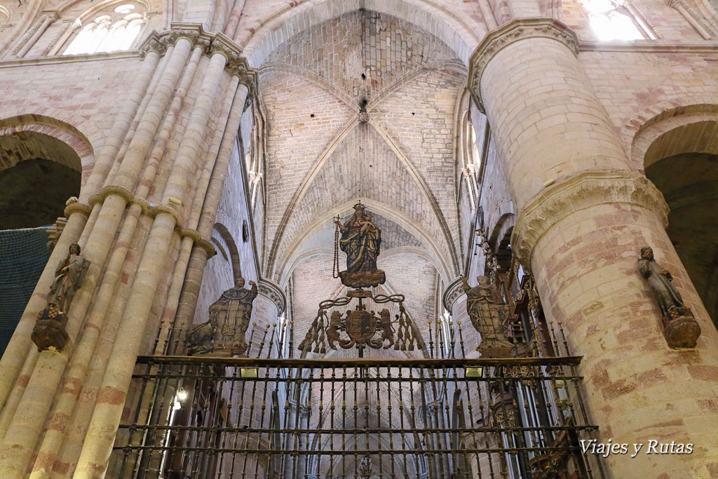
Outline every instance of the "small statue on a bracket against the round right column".
{"label": "small statue on a bracket against the round right column", "polygon": [[681,294],[673,286],[673,276],[667,269],[653,259],[653,249],[640,248],[638,260],[640,275],[648,280],[658,307],[661,308],[663,337],[670,348],[695,348],[701,335],[701,327],[693,316],[691,308],[686,307]]}

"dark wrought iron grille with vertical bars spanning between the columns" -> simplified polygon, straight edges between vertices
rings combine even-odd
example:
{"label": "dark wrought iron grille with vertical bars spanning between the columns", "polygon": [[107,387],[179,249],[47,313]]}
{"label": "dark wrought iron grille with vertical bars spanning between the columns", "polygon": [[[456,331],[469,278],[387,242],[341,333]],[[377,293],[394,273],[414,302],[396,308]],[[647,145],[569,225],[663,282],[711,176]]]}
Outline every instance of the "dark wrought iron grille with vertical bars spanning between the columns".
{"label": "dark wrought iron grille with vertical bars spanning between the columns", "polygon": [[603,477],[579,361],[140,357],[108,477]]}

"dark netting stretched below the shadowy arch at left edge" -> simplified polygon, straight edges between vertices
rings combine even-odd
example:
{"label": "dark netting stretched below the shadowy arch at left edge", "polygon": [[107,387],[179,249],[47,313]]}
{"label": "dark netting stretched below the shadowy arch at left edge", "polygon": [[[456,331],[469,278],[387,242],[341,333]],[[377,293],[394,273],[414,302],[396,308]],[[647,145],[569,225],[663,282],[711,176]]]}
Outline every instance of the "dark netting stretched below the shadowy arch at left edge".
{"label": "dark netting stretched below the shadowy arch at left edge", "polygon": [[0,353],[49,258],[46,228],[0,231]]}

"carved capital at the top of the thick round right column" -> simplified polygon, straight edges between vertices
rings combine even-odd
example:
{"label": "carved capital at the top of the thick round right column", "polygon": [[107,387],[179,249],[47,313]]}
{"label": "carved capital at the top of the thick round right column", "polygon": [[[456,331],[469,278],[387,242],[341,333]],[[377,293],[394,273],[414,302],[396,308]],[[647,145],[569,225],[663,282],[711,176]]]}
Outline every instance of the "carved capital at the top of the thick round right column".
{"label": "carved capital at the top of the thick round right column", "polygon": [[489,32],[469,57],[469,91],[480,111],[481,75],[486,65],[503,47],[527,38],[543,37],[554,39],[569,47],[574,55],[579,52],[579,39],[566,24],[552,18],[517,18]]}

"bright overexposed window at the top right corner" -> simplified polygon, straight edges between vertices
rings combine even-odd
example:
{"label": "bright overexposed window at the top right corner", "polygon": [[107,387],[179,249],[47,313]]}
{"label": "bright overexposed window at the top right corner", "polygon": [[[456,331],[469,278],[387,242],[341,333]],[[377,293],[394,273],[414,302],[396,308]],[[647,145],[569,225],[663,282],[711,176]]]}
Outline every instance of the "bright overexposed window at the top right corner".
{"label": "bright overexposed window at the top right corner", "polygon": [[579,0],[589,24],[600,40],[655,39],[651,27],[625,0]]}

